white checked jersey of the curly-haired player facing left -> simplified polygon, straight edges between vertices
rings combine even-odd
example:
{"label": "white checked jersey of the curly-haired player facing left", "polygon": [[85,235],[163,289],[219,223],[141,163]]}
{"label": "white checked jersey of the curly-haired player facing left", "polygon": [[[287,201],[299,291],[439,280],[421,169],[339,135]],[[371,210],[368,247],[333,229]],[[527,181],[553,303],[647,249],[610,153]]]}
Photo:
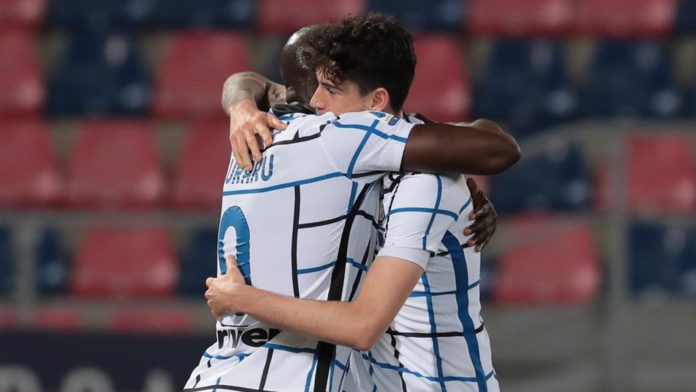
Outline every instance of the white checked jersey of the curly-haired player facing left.
{"label": "white checked jersey of the curly-haired player facing left", "polygon": [[480,254],[465,247],[472,199],[464,176],[390,174],[379,255],[423,275],[387,332],[351,359],[351,391],[498,391],[480,316]]}

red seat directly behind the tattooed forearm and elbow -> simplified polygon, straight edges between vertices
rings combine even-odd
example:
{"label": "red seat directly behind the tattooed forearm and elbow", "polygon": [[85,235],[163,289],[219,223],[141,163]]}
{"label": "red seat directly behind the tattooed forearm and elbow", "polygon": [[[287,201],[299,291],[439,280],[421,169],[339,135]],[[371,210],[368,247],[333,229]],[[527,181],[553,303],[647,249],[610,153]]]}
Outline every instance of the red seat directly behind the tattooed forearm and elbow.
{"label": "red seat directly behind the tattooed forearm and elbow", "polygon": [[251,69],[244,36],[200,32],[174,34],[156,76],[154,114],[163,118],[224,116],[225,79]]}

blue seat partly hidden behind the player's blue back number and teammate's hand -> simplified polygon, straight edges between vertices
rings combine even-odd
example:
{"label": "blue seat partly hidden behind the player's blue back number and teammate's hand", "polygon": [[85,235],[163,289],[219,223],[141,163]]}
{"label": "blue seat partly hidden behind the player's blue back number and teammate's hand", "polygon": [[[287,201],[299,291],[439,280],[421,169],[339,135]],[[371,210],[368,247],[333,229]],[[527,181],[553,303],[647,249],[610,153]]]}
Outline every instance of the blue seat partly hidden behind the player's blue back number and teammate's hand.
{"label": "blue seat partly hidden behind the player's blue back number and teammate's hand", "polygon": [[217,274],[217,229],[198,229],[191,235],[191,243],[181,257],[179,293],[200,296],[205,290],[205,279]]}

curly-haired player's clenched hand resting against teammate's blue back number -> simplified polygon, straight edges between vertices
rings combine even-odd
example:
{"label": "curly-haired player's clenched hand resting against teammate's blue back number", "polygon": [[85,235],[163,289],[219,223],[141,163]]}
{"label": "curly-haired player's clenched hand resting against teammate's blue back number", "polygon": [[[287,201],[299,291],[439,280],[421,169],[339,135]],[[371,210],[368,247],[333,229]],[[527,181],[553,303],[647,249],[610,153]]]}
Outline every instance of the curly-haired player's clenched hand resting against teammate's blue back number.
{"label": "curly-haired player's clenched hand resting against teammate's blue back number", "polygon": [[227,257],[227,273],[217,278],[208,278],[205,285],[208,290],[205,298],[208,300],[208,307],[213,317],[220,318],[229,313],[234,313],[236,290],[240,285],[244,285],[244,277],[237,268],[237,259],[234,256]]}

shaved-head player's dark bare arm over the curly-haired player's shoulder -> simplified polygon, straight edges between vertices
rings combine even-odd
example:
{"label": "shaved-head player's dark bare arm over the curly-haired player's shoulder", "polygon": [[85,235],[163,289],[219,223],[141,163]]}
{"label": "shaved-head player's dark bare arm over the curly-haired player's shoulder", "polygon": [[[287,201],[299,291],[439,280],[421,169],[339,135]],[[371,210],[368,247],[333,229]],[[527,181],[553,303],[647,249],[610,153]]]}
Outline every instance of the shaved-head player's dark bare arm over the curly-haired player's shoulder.
{"label": "shaved-head player's dark bare arm over the curly-haired player's shoulder", "polygon": [[515,138],[492,121],[476,120],[468,125],[431,121],[413,127],[402,167],[412,171],[490,175],[507,170],[520,157]]}

